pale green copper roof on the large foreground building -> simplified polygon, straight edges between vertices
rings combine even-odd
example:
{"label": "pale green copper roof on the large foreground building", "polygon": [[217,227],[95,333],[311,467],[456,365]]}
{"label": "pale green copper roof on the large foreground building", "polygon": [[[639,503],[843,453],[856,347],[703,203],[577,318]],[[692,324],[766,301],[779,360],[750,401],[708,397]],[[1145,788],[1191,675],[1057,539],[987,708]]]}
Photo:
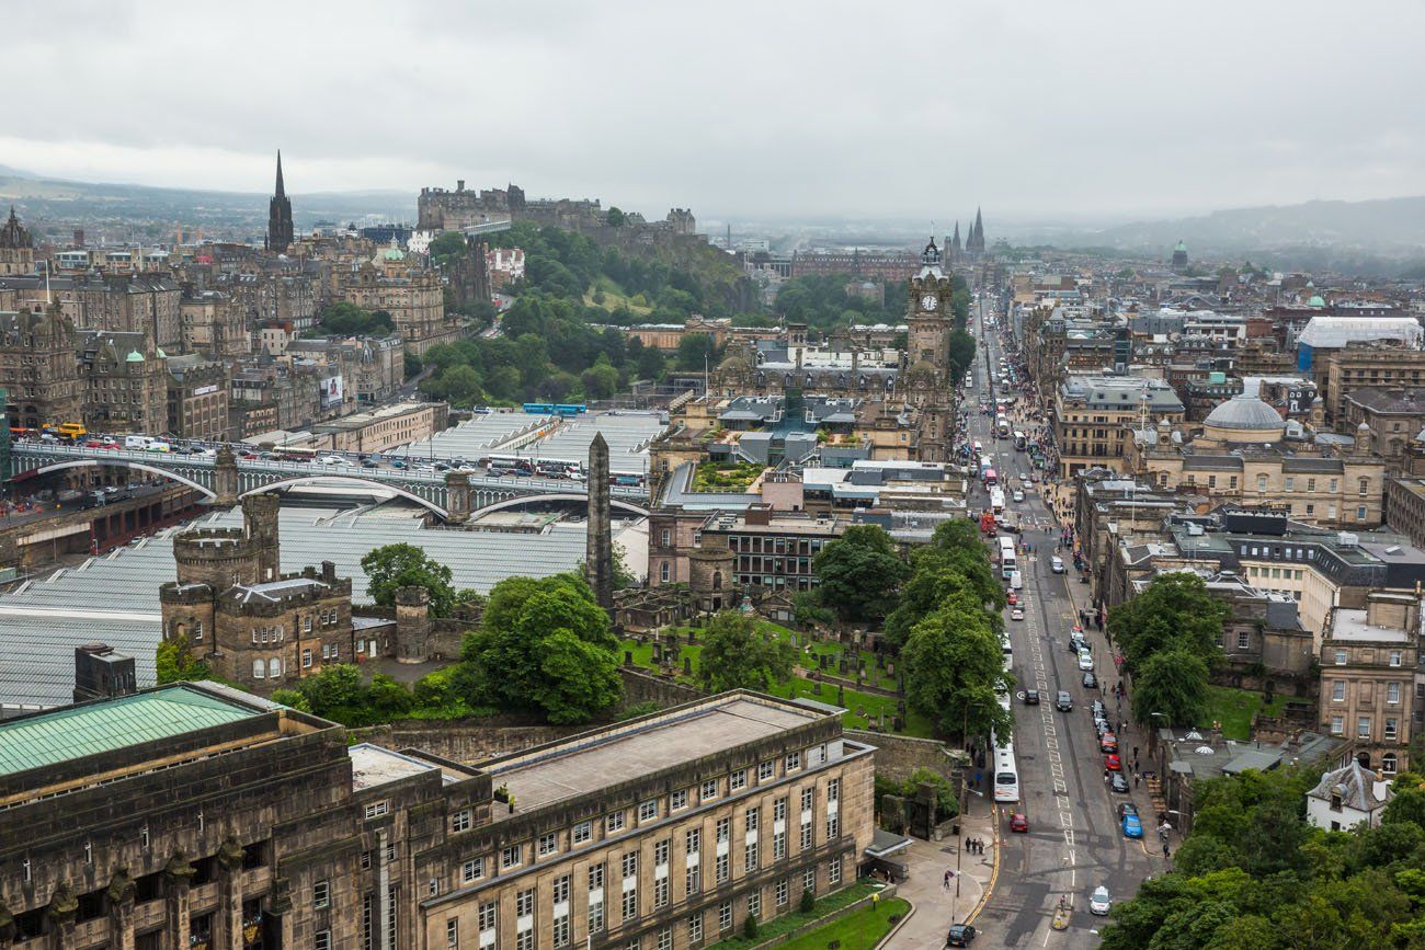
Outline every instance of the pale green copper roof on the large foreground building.
{"label": "pale green copper roof on the large foreground building", "polygon": [[0,775],[114,752],[261,715],[190,687],[168,687],[0,722]]}

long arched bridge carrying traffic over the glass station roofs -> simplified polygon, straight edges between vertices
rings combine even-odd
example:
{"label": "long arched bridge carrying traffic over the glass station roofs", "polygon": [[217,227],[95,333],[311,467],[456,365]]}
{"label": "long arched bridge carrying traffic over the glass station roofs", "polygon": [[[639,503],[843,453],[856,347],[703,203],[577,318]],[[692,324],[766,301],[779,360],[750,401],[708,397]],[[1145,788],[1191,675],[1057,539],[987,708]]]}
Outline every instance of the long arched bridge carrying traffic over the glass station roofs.
{"label": "long arched bridge carrying traffic over the glass station roofs", "polygon": [[[460,524],[486,508],[510,508],[534,501],[587,501],[589,493],[563,479],[492,477],[480,473],[428,473],[409,469],[363,469],[316,461],[237,459],[227,449],[217,457],[168,451],[90,449],[58,443],[19,442],[10,450],[19,481],[66,469],[123,467],[171,479],[214,500],[232,506],[248,494],[281,491],[304,484],[351,484],[390,491],[446,521]],[[613,507],[647,514],[648,490],[611,486]]]}

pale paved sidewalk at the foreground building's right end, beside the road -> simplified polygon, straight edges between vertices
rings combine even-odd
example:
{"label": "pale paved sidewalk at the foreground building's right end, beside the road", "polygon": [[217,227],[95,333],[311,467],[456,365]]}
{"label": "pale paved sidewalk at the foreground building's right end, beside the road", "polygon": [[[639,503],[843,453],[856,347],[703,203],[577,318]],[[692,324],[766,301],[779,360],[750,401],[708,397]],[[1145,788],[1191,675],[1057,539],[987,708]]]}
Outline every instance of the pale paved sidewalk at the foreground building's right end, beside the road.
{"label": "pale paved sidewalk at the foreground building's right end, beside the road", "polygon": [[[999,856],[995,832],[993,809],[972,795],[969,813],[960,820],[959,837],[939,842],[912,840],[905,855],[911,876],[896,884],[896,894],[909,900],[915,912],[885,944],[886,950],[943,947],[945,933],[952,923],[975,920],[995,887],[995,860]],[[966,837],[985,842],[985,853],[960,853]],[[955,870],[956,859],[960,866],[956,872],[959,896],[955,889],[956,880],[945,887],[945,872]]]}

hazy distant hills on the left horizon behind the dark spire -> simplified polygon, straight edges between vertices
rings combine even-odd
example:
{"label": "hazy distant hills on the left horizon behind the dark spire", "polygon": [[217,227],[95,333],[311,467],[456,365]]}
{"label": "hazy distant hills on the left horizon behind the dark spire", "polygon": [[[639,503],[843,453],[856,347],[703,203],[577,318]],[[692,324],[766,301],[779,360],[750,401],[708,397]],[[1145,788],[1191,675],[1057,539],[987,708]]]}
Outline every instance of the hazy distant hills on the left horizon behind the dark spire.
{"label": "hazy distant hills on the left horizon behind the dark spire", "polygon": [[[318,221],[361,221],[365,215],[409,222],[416,216],[416,197],[410,192],[314,192],[291,198],[298,229]],[[111,225],[157,235],[181,222],[209,236],[248,235],[266,228],[268,214],[268,195],[261,194],[66,181],[0,167],[0,205],[11,202],[40,234]]]}

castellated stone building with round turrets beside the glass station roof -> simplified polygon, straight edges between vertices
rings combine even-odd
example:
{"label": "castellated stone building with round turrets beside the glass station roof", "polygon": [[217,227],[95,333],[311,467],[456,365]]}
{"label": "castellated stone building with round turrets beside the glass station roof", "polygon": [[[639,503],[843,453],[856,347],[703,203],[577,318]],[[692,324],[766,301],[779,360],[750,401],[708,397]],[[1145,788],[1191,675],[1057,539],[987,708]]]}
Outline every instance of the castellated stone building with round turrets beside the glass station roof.
{"label": "castellated stone building with round turrets beside the glass station roof", "polygon": [[429,658],[429,597],[402,588],[396,620],[352,618],[351,578],[336,567],[281,571],[278,499],[242,500],[241,528],[200,528],[174,538],[178,580],[160,588],[164,637],[182,640],[215,675],[269,694],[326,664]]}

